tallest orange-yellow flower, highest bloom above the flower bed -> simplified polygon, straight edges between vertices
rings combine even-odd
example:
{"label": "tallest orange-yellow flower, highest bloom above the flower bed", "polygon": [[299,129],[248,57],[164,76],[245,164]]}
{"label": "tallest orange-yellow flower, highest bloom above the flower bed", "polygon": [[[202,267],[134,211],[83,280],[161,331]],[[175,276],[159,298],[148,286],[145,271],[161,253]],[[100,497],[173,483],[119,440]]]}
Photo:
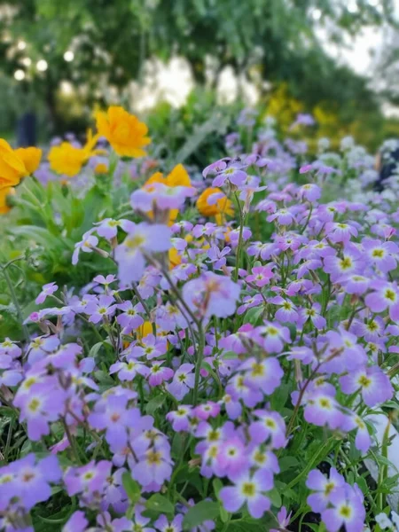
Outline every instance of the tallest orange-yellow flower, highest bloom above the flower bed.
{"label": "tallest orange-yellow flower, highest bloom above the flower bed", "polygon": [[145,137],[148,128],[133,114],[119,106],[111,106],[107,113],[96,113],[98,134],[106,137],[118,155],[125,157],[143,157],[143,147],[150,144],[151,138]]}

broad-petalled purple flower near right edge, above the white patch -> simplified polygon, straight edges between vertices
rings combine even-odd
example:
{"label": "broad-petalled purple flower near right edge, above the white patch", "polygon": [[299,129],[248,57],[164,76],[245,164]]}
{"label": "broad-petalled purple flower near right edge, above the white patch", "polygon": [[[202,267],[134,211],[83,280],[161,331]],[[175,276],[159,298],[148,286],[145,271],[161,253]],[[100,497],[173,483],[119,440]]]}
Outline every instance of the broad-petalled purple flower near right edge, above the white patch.
{"label": "broad-petalled purple flower near right edge, above the white patch", "polygon": [[340,378],[340,387],[344,394],[360,390],[364,403],[371,407],[385,403],[394,395],[390,380],[378,366],[348,373]]}

